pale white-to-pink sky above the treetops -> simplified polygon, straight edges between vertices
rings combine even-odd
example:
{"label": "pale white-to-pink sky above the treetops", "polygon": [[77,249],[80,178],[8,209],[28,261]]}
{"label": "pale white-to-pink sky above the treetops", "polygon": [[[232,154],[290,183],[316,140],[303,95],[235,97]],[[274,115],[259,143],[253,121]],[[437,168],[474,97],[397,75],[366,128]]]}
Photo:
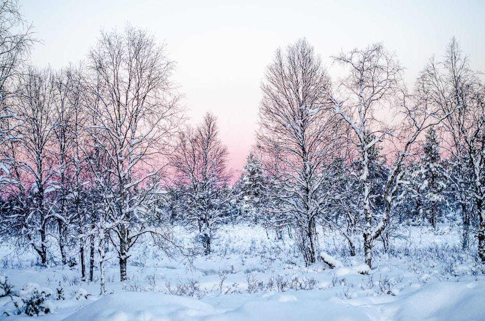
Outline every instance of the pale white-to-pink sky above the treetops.
{"label": "pale white-to-pink sky above the treetops", "polygon": [[62,68],[86,59],[100,31],[126,24],[152,32],[177,62],[174,80],[189,122],[218,117],[229,165],[242,169],[258,128],[260,84],[275,50],[306,37],[330,76],[329,58],[381,42],[395,52],[412,86],[429,58],[441,58],[452,36],[471,67],[485,72],[485,1],[308,0],[20,0],[42,43],[34,65]]}

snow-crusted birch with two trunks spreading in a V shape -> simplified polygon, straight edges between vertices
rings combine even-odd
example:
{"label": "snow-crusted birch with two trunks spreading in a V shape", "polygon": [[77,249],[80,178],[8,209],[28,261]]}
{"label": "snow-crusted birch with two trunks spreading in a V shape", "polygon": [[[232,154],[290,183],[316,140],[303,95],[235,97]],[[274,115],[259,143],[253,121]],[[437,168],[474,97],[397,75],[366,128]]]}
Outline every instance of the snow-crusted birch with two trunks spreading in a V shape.
{"label": "snow-crusted birch with two trunks spreading in a V shape", "polygon": [[[411,148],[421,133],[440,123],[453,111],[438,113],[428,108],[426,100],[407,95],[401,79],[402,67],[381,44],[354,49],[349,53],[341,52],[334,60],[349,69],[349,75],[339,80],[338,93],[343,99],[332,96],[330,100],[334,104],[334,112],[351,128],[347,138],[356,146],[360,163],[356,177],[361,184],[359,197],[365,219],[364,254],[366,264],[372,267],[373,242],[383,233],[385,237],[393,201],[405,183],[404,160],[411,154]],[[391,112],[399,115],[401,125],[394,124],[393,128],[381,125],[383,122],[377,118],[377,112],[386,104],[391,107]],[[380,194],[383,209],[376,212],[372,175],[379,166],[372,169],[372,154],[385,147],[385,139],[388,142],[386,147],[394,149],[390,153],[393,159]]]}

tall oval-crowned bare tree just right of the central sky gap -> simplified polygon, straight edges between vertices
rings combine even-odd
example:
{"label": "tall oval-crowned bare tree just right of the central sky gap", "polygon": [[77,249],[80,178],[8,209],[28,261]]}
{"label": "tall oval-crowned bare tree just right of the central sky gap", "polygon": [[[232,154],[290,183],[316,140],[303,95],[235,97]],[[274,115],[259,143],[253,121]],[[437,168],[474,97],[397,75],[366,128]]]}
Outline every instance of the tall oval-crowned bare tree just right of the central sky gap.
{"label": "tall oval-crowned bare tree just right of the central sky gap", "polygon": [[329,78],[306,39],[276,50],[261,84],[257,144],[273,188],[276,227],[294,226],[305,263],[318,257],[317,220],[331,197],[328,183],[336,117],[325,101]]}

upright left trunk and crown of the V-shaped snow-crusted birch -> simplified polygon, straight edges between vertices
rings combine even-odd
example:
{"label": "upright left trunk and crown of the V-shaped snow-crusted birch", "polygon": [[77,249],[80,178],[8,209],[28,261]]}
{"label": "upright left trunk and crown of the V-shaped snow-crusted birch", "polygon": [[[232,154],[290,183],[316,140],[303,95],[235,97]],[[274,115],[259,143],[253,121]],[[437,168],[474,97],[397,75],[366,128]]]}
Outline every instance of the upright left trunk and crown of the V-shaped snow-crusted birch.
{"label": "upright left trunk and crown of the V-shaped snow-crusted birch", "polygon": [[365,217],[364,252],[365,261],[372,265],[372,243],[384,229],[387,217],[374,224],[372,210],[370,165],[371,154],[376,144],[383,141],[391,131],[382,128],[375,113],[383,102],[391,102],[402,91],[402,67],[381,44],[364,49],[341,52],[334,61],[349,68],[349,75],[339,79],[339,93],[343,100],[334,98],[334,112],[351,128],[347,139],[356,145],[360,171],[355,176],[361,184],[361,206]]}

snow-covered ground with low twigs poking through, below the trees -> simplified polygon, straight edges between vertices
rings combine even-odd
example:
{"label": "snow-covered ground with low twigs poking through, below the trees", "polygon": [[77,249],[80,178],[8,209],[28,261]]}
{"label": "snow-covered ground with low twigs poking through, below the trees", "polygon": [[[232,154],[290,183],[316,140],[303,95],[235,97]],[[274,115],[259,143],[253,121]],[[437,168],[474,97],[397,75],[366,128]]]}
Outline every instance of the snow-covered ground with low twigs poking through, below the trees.
{"label": "snow-covered ground with low twigs poking through, below the trees", "polygon": [[[132,251],[125,283],[109,252],[105,297],[98,270],[94,282],[81,282],[79,266],[42,268],[29,249],[16,255],[4,243],[0,281],[7,277],[18,305],[34,289],[52,293],[44,303],[51,313],[35,320],[485,320],[476,244],[463,252],[453,226],[402,234],[388,253],[376,245],[371,271],[362,252],[351,259],[346,242],[322,230],[320,250],[341,267],[305,267],[288,234],[277,241],[259,226],[223,226],[213,253],[193,259],[169,258],[146,239]],[[175,235],[193,239],[180,227]],[[15,300],[0,298],[0,319],[31,320],[16,315]]]}

